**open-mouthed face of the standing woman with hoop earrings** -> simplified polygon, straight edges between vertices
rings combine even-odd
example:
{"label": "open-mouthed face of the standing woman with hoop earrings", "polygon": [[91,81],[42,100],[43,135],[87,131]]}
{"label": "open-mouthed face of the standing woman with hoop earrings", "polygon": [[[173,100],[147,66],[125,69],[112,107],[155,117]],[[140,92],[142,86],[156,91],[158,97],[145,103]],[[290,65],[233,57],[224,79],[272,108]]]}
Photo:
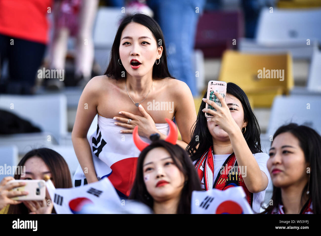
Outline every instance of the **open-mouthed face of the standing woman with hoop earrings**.
{"label": "open-mouthed face of the standing woman with hoop earrings", "polygon": [[[152,74],[155,60],[160,59],[163,51],[163,47],[158,46],[158,41],[146,26],[131,22],[126,25],[120,37],[119,57],[121,64],[133,77]],[[141,64],[132,65],[132,59],[138,60]]]}

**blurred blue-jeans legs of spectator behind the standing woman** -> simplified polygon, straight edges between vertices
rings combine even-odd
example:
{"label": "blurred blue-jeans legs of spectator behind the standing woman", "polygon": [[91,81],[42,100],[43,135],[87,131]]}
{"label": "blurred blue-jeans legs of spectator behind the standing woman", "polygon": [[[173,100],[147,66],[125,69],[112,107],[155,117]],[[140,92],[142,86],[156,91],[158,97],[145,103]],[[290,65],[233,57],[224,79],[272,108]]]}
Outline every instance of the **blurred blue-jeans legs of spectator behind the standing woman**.
{"label": "blurred blue-jeans legs of spectator behind the standing woman", "polygon": [[205,0],[148,0],[147,4],[164,32],[169,48],[169,72],[187,83],[193,96],[198,95],[192,55],[197,21]]}

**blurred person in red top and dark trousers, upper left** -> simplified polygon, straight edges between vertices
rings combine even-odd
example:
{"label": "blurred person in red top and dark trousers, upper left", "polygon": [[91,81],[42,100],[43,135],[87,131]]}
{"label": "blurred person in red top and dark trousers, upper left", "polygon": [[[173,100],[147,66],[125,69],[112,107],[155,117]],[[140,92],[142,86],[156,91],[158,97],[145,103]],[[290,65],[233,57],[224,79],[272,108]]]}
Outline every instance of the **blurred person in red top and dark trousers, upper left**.
{"label": "blurred person in red top and dark trousers, upper left", "polygon": [[32,94],[48,43],[47,13],[53,0],[0,0],[0,69],[8,60],[0,93]]}

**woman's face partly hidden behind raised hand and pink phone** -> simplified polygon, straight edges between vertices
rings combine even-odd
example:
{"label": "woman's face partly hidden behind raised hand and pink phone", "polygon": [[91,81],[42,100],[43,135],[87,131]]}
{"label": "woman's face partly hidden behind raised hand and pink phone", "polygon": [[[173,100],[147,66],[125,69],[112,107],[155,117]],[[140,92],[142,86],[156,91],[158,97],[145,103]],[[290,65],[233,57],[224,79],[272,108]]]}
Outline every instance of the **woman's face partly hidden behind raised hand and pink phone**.
{"label": "woman's face partly hidden behind raised hand and pink phone", "polygon": [[[231,94],[226,94],[225,102],[230,109],[232,118],[236,124],[242,129],[247,126],[247,122],[244,121],[244,111],[241,101]],[[213,136],[214,140],[226,141],[229,140],[229,135],[220,126],[216,125],[215,122],[207,121],[207,127]]]}

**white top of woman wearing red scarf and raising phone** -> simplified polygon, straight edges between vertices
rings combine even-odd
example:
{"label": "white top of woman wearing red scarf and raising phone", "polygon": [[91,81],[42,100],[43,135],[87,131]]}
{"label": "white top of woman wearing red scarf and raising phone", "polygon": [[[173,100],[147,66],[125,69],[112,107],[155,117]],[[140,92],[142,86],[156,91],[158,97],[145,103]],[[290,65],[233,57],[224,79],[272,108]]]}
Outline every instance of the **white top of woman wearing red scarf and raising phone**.
{"label": "white top of woman wearing red scarf and raising phone", "polygon": [[[225,160],[229,156],[230,156],[230,154],[224,154],[224,155],[215,155],[214,154],[214,157],[213,157],[214,158],[214,178],[213,178],[214,180],[216,179],[216,176],[218,175],[219,171],[221,170],[221,167],[224,164]],[[266,162],[267,162],[267,159],[269,159],[269,155],[266,153],[255,153],[255,154],[253,154],[253,156],[254,156],[257,164],[259,165],[260,170],[262,170],[266,174],[268,181],[270,182],[271,181],[270,173],[266,167]],[[193,162],[193,164],[195,165],[195,163],[197,161],[198,160],[195,160]],[[204,184],[204,183],[202,183],[202,184]],[[252,210],[254,211],[254,213],[260,212],[261,205],[264,201],[266,189],[267,189],[267,187],[259,193],[253,193]]]}

